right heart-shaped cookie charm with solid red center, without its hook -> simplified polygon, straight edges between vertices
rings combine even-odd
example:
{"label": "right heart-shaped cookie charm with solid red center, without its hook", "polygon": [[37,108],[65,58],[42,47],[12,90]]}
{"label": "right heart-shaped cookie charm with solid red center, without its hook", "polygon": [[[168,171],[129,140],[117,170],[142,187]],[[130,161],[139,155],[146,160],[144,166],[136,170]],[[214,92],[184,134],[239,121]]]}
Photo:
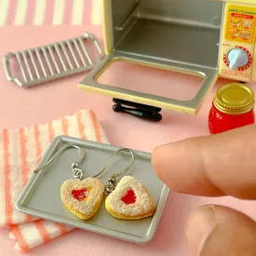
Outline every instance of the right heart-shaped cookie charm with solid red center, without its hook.
{"label": "right heart-shaped cookie charm with solid red center, without its hook", "polygon": [[117,219],[139,220],[154,214],[155,201],[141,182],[126,176],[107,196],[105,207]]}

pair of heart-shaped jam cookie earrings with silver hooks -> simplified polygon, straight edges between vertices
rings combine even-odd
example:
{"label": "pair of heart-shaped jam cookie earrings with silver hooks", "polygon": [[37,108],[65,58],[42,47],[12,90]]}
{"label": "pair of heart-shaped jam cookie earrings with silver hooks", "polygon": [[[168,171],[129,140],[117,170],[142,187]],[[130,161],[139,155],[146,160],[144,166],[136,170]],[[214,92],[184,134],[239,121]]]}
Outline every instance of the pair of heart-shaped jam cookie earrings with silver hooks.
{"label": "pair of heart-shaped jam cookie earrings with silver hooks", "polygon": [[[107,165],[101,171],[87,179],[83,179],[85,171],[79,168],[85,157],[85,150],[76,146],[68,145],[61,148],[47,163],[34,170],[36,173],[46,167],[57,155],[68,148],[79,150],[80,157],[72,165],[74,179],[67,180],[61,184],[61,201],[66,209],[80,220],[89,220],[101,206],[103,195],[106,194],[105,208],[115,218],[122,220],[139,220],[150,217],[155,212],[155,201],[145,186],[132,176],[124,176],[135,163],[135,155],[130,149],[120,149],[115,152]],[[105,185],[98,178],[108,168],[115,155],[128,152],[131,155],[130,164],[120,172],[115,173]],[[116,178],[124,176],[115,186]]]}

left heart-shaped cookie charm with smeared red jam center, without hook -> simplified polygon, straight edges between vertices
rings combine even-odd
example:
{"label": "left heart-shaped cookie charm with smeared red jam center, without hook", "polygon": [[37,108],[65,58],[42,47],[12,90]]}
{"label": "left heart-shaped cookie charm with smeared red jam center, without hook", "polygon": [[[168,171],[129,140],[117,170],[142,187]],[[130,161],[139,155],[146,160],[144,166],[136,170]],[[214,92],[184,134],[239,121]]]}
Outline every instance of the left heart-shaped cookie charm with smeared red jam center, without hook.
{"label": "left heart-shaped cookie charm with smeared red jam center, without hook", "polygon": [[104,183],[95,178],[81,182],[67,180],[61,185],[61,200],[64,206],[81,220],[88,220],[97,212],[103,195]]}

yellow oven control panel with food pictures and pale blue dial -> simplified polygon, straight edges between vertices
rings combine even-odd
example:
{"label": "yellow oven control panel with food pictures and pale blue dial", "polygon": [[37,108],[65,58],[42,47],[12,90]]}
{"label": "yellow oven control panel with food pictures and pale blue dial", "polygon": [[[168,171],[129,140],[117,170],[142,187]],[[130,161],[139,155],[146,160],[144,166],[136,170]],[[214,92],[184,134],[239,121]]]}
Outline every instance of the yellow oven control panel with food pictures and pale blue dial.
{"label": "yellow oven control panel with food pictures and pale blue dial", "polygon": [[222,23],[220,75],[249,82],[252,80],[256,43],[256,5],[227,3]]}

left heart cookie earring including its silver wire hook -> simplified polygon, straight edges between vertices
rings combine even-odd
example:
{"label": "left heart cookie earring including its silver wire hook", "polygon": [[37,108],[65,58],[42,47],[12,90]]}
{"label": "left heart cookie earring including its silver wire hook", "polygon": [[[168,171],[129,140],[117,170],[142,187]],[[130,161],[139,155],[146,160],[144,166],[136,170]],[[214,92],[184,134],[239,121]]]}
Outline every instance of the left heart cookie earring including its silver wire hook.
{"label": "left heart cookie earring including its silver wire hook", "polygon": [[[79,166],[85,158],[85,150],[75,145],[63,147],[41,168],[46,167],[57,155],[60,155],[61,152],[72,147],[79,150],[80,158],[72,165],[74,179],[67,180],[61,184],[61,201],[65,208],[72,212],[74,216],[86,221],[100,208],[104,195],[104,183],[95,178],[99,176],[102,171],[95,177],[83,180],[85,172],[82,168],[79,168]],[[41,168],[35,169],[34,172],[39,171]]]}

